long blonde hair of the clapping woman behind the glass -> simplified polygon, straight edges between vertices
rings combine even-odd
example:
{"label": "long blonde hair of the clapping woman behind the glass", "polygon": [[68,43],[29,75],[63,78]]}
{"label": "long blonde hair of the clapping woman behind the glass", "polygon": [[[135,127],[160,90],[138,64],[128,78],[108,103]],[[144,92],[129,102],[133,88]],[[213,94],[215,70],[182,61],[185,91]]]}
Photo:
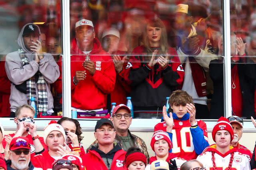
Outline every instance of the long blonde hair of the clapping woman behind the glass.
{"label": "long blonde hair of the clapping woman behind the glass", "polygon": [[160,37],[160,51],[159,53],[162,55],[166,55],[168,52],[168,42],[167,42],[167,33],[166,33],[166,28],[164,26],[164,23],[160,20],[158,17],[154,17],[152,20],[150,20],[146,25],[144,29],[144,37],[143,37],[143,42],[144,46],[146,47],[146,52],[148,54],[152,54],[152,49],[150,48],[150,43],[147,35],[147,26],[150,25],[152,27],[160,27],[162,29],[162,34]]}

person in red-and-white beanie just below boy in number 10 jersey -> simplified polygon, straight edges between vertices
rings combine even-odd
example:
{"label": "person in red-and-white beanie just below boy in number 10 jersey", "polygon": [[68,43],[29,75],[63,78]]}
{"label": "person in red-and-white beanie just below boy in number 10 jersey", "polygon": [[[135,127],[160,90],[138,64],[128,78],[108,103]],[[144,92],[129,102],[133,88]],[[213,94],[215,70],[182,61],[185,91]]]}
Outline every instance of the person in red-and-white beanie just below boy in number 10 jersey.
{"label": "person in red-and-white beanie just below boy in number 10 jersey", "polygon": [[150,157],[149,165],[146,166],[146,170],[150,170],[150,164],[156,160],[164,160],[168,162],[171,170],[177,170],[184,162],[186,162],[185,159],[179,158],[175,154],[169,152],[172,149],[172,141],[168,133],[164,131],[159,130],[154,132],[150,146],[156,156]]}

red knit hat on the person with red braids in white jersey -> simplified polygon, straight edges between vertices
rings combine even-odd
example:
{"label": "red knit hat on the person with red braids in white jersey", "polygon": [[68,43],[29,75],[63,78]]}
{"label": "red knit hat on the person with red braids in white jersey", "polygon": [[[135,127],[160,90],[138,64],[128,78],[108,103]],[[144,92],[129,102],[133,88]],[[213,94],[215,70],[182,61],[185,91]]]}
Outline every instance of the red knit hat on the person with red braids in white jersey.
{"label": "red knit hat on the person with red braids in white jersey", "polygon": [[231,137],[231,141],[233,140],[234,138],[234,132],[233,132],[233,128],[232,126],[230,125],[229,121],[227,118],[225,117],[220,117],[220,119],[218,119],[217,123],[214,125],[213,129],[212,129],[212,139],[214,142],[215,141],[215,135],[218,131],[221,131],[221,130],[226,130],[229,132],[230,134],[230,137]]}

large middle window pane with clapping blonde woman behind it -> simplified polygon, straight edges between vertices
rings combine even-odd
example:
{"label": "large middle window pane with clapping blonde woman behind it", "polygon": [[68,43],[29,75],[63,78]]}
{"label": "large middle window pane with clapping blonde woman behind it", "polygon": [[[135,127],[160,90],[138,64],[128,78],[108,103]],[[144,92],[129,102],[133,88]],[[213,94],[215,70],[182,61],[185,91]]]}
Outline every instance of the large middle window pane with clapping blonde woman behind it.
{"label": "large middle window pane with clapping blonde woman behind it", "polygon": [[134,118],[160,118],[182,89],[197,118],[223,115],[209,111],[212,60],[223,76],[220,0],[70,0],[70,28],[73,109],[110,111],[131,97]]}

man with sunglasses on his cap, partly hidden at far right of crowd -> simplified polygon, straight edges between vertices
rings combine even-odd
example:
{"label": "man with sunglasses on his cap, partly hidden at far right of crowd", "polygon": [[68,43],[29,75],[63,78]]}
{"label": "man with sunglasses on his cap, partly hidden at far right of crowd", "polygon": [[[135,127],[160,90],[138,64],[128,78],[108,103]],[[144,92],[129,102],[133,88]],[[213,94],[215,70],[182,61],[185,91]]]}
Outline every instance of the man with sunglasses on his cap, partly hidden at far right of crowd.
{"label": "man with sunglasses on his cap, partly hidden at far right of crowd", "polygon": [[228,117],[228,121],[231,124],[234,132],[234,139],[231,141],[230,145],[236,148],[238,152],[245,154],[249,160],[251,160],[252,152],[238,142],[243,134],[243,119],[238,116],[230,116]]}

